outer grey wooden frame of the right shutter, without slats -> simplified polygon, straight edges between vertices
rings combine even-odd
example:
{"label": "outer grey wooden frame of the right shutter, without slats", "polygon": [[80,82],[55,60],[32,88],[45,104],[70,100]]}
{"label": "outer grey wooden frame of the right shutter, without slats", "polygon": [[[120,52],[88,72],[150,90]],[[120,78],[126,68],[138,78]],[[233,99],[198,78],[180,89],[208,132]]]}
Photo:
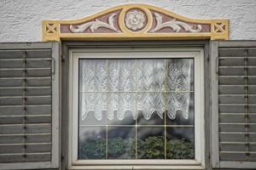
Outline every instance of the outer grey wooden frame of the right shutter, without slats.
{"label": "outer grey wooden frame of the right shutter, without slats", "polygon": [[[255,168],[256,161],[222,161],[219,158],[218,51],[221,48],[256,48],[256,41],[211,41],[211,161],[213,168]],[[256,57],[255,57],[256,59]],[[256,65],[255,65],[256,66]],[[221,89],[221,88],[220,88]],[[235,125],[236,126],[236,125]],[[255,141],[256,142],[256,141]]]}

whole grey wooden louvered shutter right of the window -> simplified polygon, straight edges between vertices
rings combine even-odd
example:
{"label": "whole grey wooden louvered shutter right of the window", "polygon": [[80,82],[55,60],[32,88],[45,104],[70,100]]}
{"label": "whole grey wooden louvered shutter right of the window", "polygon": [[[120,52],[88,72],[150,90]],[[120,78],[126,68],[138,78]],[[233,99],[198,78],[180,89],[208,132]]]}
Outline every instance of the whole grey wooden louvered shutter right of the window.
{"label": "whole grey wooden louvered shutter right of the window", "polygon": [[212,42],[212,167],[256,167],[256,41]]}

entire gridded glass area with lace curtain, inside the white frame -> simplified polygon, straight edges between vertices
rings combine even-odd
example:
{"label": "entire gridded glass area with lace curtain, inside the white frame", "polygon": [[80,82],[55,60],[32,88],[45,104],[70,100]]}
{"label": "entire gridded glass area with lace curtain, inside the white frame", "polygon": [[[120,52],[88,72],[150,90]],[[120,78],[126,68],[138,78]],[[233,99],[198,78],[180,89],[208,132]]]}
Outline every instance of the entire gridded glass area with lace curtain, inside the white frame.
{"label": "entire gridded glass area with lace curtain, inside the white frame", "polygon": [[193,73],[194,59],[79,59],[79,159],[194,159]]}

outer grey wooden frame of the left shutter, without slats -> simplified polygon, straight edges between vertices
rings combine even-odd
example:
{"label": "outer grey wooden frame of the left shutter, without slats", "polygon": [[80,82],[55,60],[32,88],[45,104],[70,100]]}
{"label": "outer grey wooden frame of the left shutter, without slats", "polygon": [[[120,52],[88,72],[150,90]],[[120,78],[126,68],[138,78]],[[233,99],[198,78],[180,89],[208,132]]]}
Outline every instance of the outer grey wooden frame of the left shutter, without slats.
{"label": "outer grey wooden frame of the left shutter, without slats", "polygon": [[0,50],[51,50],[51,158],[50,161],[0,163],[0,169],[59,168],[60,166],[60,43],[59,42],[3,42]]}

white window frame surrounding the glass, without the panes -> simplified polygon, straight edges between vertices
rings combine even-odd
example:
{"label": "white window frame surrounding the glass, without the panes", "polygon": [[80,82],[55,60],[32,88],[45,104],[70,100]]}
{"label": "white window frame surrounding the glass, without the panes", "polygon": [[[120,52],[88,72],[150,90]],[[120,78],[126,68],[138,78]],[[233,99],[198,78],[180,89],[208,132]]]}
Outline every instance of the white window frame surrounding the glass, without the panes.
{"label": "white window frame surrounding the glass, without the panes", "polygon": [[[148,56],[150,54],[150,56]],[[125,58],[193,58],[195,59],[195,159],[194,160],[78,160],[79,59]],[[204,123],[204,51],[203,48],[86,48],[69,50],[68,166],[70,169],[90,168],[184,168],[205,167]],[[108,166],[107,166],[108,165]],[[122,167],[120,167],[122,166]],[[85,168],[85,167],[84,167]]]}

